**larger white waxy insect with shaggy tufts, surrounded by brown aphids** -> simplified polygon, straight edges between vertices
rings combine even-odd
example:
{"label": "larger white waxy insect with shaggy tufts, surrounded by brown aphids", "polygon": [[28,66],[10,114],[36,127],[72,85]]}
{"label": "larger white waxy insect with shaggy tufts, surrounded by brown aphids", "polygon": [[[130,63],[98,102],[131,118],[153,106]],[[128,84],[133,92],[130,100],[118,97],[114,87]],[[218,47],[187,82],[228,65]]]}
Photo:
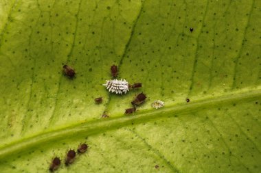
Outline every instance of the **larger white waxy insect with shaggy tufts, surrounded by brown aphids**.
{"label": "larger white waxy insect with shaggy tufts, surrounded by brown aphids", "polygon": [[126,94],[128,92],[128,82],[125,79],[106,80],[106,83],[103,85],[106,86],[109,92],[115,92],[116,94]]}

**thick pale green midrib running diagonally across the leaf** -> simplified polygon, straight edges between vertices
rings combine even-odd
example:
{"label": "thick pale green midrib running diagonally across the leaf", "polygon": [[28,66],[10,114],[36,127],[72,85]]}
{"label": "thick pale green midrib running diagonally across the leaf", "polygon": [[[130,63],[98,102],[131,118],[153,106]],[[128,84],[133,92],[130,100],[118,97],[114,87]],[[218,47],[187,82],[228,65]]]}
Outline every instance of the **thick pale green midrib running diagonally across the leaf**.
{"label": "thick pale green midrib running diagonally across the leaf", "polygon": [[69,127],[64,127],[61,129],[52,129],[51,131],[45,131],[31,137],[25,137],[14,141],[10,144],[5,144],[5,146],[0,148],[0,159],[3,159],[12,153],[24,150],[25,148],[30,148],[46,142],[52,142],[54,140],[62,139],[75,134],[84,133],[85,135],[93,135],[124,127],[132,124],[133,122],[135,122],[135,124],[139,124],[155,118],[162,118],[170,115],[174,116],[175,114],[188,114],[199,109],[225,105],[227,103],[234,103],[237,101],[250,101],[260,97],[261,89],[256,88],[256,90],[249,90],[247,92],[243,91],[236,92],[234,94],[216,96],[214,98],[198,99],[190,103],[177,103],[158,110],[149,109],[139,111],[133,116],[120,116],[116,118],[93,120],[92,122],[73,124]]}

